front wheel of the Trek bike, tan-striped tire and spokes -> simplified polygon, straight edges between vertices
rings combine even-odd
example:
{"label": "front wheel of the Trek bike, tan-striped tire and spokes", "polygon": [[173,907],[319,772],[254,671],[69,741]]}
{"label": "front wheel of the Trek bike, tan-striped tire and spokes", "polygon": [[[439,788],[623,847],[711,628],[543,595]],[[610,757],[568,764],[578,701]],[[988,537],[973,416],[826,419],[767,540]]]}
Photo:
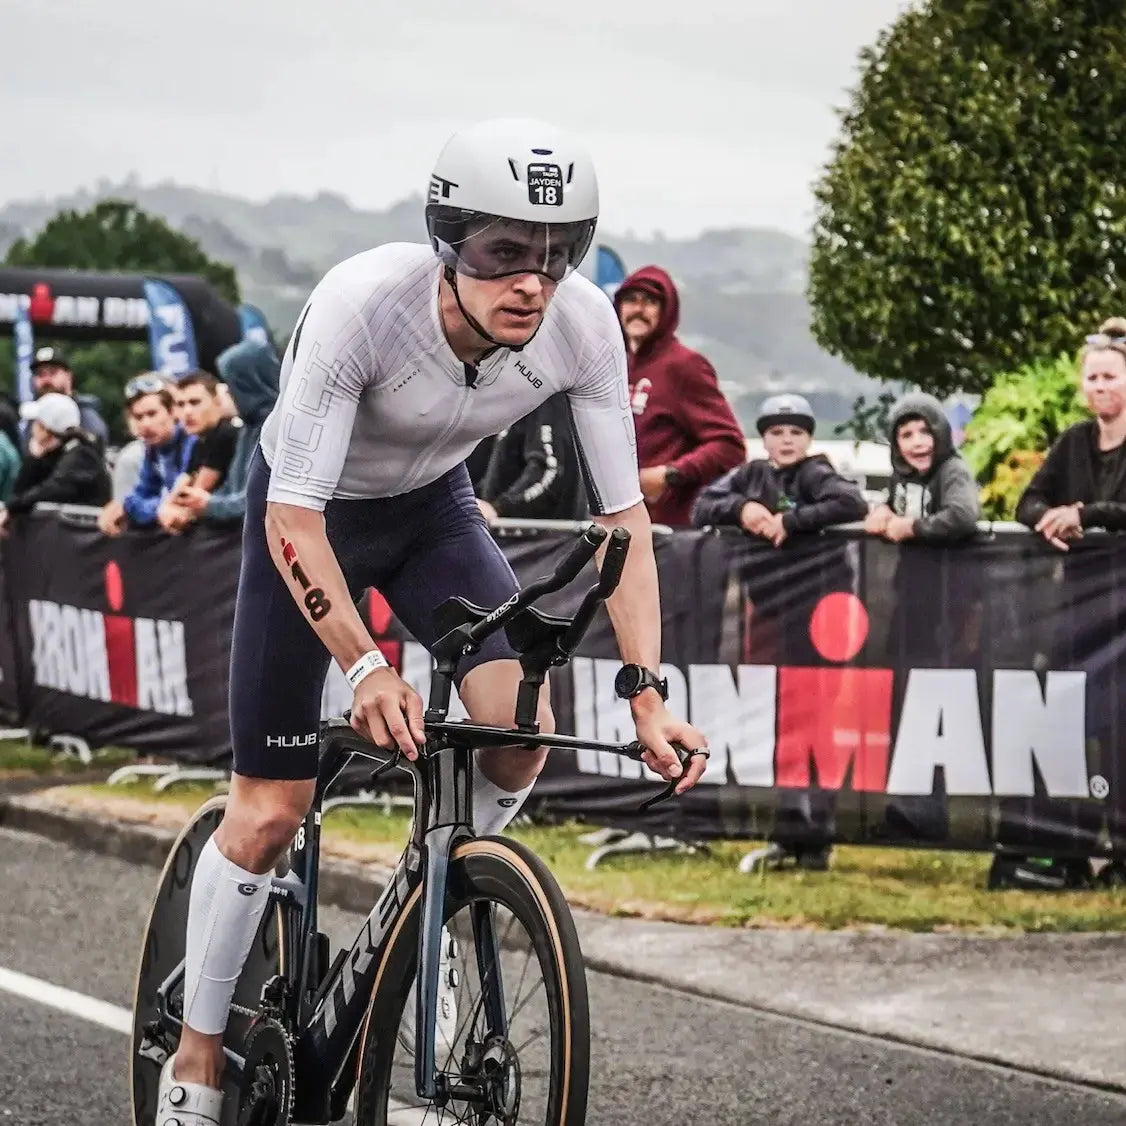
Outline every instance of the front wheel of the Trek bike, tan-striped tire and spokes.
{"label": "front wheel of the Trek bike, tan-striped tire and spokes", "polygon": [[[582,1126],[590,1019],[574,921],[544,864],[515,841],[454,850],[446,902],[437,1062],[483,1101],[427,1102],[414,1085],[415,890],[384,949],[364,1028],[356,1126]],[[490,930],[500,946],[497,973]],[[453,971],[453,974],[450,974]],[[499,989],[498,989],[499,978]],[[507,1028],[490,1027],[500,1003]]]}

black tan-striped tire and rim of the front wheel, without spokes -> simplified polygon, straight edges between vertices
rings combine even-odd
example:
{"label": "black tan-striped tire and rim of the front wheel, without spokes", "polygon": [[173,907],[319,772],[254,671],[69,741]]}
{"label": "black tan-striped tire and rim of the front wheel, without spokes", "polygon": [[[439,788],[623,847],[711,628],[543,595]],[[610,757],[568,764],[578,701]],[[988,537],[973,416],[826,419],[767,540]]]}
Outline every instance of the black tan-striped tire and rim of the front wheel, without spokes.
{"label": "black tan-striped tire and rim of the front wheel, without spokes", "polygon": [[[582,950],[563,892],[530,849],[507,838],[483,837],[454,849],[446,919],[474,900],[506,908],[533,941],[547,986],[554,1034],[547,1126],[583,1126],[590,1080],[590,1011]],[[392,1058],[418,962],[420,904],[421,888],[415,887],[376,971],[358,1054],[356,1126],[387,1126]]]}

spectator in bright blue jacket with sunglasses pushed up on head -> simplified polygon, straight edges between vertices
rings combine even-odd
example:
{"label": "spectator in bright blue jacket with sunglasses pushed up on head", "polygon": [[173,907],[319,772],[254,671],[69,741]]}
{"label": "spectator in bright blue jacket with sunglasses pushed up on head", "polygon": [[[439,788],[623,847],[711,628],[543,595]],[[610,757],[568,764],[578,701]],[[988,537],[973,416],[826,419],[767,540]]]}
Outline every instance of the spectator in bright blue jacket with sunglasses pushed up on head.
{"label": "spectator in bright blue jacket with sunglasses pushed up on head", "polygon": [[155,372],[135,376],[125,384],[125,412],[131,431],[144,443],[144,457],[136,484],[123,500],[111,500],[98,513],[98,527],[116,536],[126,527],[151,528],[158,524],[177,533],[191,522],[171,501],[177,481],[187,472],[195,437],[176,420],[172,384]]}

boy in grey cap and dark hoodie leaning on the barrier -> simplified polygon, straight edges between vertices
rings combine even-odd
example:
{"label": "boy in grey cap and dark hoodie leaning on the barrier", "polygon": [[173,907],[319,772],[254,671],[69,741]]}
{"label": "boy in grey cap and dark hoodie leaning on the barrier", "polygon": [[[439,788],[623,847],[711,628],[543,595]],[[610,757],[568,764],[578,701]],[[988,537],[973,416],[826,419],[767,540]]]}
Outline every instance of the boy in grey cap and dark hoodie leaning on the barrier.
{"label": "boy in grey cap and dark hoodie leaning on the barrier", "polygon": [[692,524],[738,525],[780,547],[798,531],[864,519],[857,485],[823,454],[808,456],[813,409],[801,395],[771,395],[756,420],[767,457],[713,481],[696,499]]}

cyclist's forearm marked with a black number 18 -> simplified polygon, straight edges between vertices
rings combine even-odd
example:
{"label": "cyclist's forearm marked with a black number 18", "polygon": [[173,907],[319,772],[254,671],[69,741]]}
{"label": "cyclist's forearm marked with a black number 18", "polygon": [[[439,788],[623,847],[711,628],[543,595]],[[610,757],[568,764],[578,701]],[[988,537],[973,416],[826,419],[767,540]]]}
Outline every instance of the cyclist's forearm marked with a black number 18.
{"label": "cyclist's forearm marked with a black number 18", "polygon": [[305,620],[347,671],[376,645],[329,544],[323,513],[295,504],[267,504],[266,540]]}

